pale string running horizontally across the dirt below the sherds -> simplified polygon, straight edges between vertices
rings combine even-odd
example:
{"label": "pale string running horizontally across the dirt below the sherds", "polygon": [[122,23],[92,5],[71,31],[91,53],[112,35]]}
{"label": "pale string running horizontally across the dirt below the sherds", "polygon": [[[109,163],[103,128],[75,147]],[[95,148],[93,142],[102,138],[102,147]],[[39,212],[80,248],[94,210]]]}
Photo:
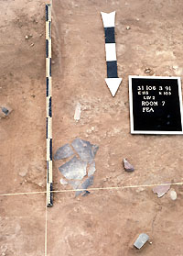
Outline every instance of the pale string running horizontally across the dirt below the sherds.
{"label": "pale string running horizontally across the dirt below the sherds", "polygon": [[[153,187],[157,185],[182,185],[181,183],[167,183],[167,184],[140,184],[140,185],[124,185],[124,186],[108,186],[108,187],[91,187],[91,188],[81,188],[81,189],[62,189],[55,190],[52,193],[69,193],[77,191],[98,191],[98,190],[117,190],[125,188],[138,188],[138,187]],[[37,194],[47,194],[47,191],[36,191],[36,192],[22,192],[22,193],[10,193],[10,194],[0,194],[0,196],[10,196],[10,195],[37,195]]]}

